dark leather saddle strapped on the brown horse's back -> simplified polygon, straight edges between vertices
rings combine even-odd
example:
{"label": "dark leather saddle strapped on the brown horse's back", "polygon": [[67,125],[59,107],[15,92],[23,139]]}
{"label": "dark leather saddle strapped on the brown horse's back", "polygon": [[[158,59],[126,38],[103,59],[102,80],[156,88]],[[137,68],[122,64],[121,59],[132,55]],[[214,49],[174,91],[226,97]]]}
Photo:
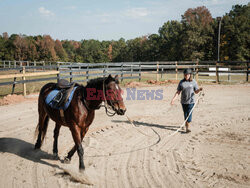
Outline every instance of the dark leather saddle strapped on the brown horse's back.
{"label": "dark leather saddle strapped on the brown horse's back", "polygon": [[75,86],[78,86],[78,84],[75,82],[70,83],[69,81],[64,79],[59,80],[56,84],[56,89],[59,90],[59,92],[50,102],[51,107],[55,109],[64,108]]}

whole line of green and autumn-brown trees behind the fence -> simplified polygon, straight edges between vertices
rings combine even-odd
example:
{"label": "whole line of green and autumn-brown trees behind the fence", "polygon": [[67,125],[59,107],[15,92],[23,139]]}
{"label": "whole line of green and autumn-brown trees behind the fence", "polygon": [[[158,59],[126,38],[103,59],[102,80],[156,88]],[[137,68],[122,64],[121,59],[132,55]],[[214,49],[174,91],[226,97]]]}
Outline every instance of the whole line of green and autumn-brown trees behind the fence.
{"label": "whole line of green and autumn-brown trees behind the fence", "polygon": [[[235,5],[222,17],[220,60],[249,60],[250,3]],[[131,40],[53,40],[49,35],[3,33],[1,60],[136,62],[217,60],[218,23],[204,7],[189,8],[181,21],[167,21],[157,34]]]}

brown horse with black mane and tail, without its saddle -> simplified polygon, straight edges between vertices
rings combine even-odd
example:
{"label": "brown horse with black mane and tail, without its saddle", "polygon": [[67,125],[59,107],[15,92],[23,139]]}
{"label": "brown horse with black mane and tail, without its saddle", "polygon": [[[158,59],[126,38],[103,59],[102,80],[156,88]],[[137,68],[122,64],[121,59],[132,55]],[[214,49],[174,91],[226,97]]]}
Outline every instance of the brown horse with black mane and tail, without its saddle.
{"label": "brown horse with black mane and tail, without its saddle", "polygon": [[[38,137],[35,144],[35,149],[39,149],[41,147],[47,132],[49,118],[51,118],[56,123],[54,129],[53,154],[58,157],[57,141],[60,127],[62,125],[69,127],[75,145],[68,152],[68,155],[65,157],[64,161],[70,162],[71,157],[74,155],[75,151],[77,151],[79,156],[79,169],[84,170],[84,150],[81,142],[87,133],[89,126],[93,122],[95,110],[99,109],[101,107],[101,103],[104,101],[106,104],[105,108],[107,114],[110,112],[107,110],[107,107],[113,109],[113,114],[125,114],[126,108],[121,96],[121,88],[119,87],[118,76],[113,78],[111,75],[109,75],[105,78],[92,79],[87,83],[86,87],[78,85],[73,95],[72,101],[69,107],[63,111],[63,115],[60,110],[53,109],[45,103],[46,96],[55,88],[57,88],[56,83],[48,83],[42,87],[39,94],[39,122],[37,125]],[[95,90],[99,92],[93,92]],[[91,98],[88,96],[90,93],[88,91],[92,92]]]}

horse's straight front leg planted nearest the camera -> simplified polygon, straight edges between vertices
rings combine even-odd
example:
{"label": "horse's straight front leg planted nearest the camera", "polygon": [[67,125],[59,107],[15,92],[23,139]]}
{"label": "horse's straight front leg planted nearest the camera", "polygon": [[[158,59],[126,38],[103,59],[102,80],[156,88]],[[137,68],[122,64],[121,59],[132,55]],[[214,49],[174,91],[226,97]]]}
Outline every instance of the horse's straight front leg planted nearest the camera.
{"label": "horse's straight front leg planted nearest the camera", "polygon": [[74,142],[75,142],[76,151],[77,151],[78,157],[79,157],[79,170],[82,171],[85,169],[84,162],[83,162],[84,150],[83,150],[82,143],[81,143],[82,129],[80,127],[78,127],[77,125],[73,125],[70,130],[71,130],[72,137],[73,137]]}

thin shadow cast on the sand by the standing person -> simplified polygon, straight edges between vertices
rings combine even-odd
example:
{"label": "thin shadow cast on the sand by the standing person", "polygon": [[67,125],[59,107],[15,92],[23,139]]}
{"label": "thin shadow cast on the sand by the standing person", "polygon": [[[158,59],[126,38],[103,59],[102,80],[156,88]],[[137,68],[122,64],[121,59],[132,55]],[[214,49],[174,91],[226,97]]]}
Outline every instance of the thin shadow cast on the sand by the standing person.
{"label": "thin shadow cast on the sand by the standing person", "polygon": [[[123,121],[123,120],[112,120],[115,123],[127,123],[130,124],[129,121]],[[160,124],[154,124],[154,123],[146,123],[146,122],[141,122],[141,121],[133,121],[133,124],[135,126],[145,126],[145,127],[155,127],[155,128],[160,128],[160,129],[166,129],[170,131],[177,131],[179,129],[179,126],[169,126],[169,125],[160,125]],[[186,133],[185,131],[179,130],[180,133]]]}

